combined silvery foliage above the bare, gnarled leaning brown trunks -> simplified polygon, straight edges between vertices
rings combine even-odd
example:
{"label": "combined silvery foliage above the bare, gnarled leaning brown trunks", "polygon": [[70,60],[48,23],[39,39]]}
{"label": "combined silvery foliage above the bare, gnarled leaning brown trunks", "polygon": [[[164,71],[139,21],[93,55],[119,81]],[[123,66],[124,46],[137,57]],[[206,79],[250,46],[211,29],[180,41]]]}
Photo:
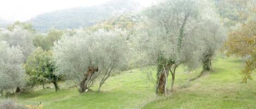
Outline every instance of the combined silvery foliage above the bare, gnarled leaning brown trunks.
{"label": "combined silvery foliage above the bare, gnarled leaning brown trunks", "polygon": [[126,31],[121,29],[80,30],[73,36],[65,34],[53,47],[58,74],[79,83],[84,79],[88,66],[98,66],[97,76],[100,73],[105,79],[113,69],[125,63],[123,58],[128,52],[126,35]]}

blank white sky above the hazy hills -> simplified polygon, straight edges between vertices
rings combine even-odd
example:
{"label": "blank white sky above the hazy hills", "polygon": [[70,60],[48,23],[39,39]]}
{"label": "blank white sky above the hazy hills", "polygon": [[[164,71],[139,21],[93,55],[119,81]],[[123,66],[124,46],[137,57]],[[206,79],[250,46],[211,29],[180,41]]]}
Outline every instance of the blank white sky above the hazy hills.
{"label": "blank white sky above the hazy hills", "polygon": [[[73,7],[88,7],[112,0],[0,0],[0,17],[8,21],[26,21],[44,12]],[[144,7],[153,0],[136,0]]]}

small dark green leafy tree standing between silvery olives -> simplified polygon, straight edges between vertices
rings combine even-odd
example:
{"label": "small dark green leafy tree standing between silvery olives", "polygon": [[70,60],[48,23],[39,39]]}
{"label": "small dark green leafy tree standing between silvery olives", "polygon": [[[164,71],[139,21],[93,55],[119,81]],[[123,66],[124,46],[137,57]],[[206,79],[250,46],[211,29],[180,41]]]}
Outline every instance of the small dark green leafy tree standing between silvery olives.
{"label": "small dark green leafy tree standing between silvery olives", "polygon": [[52,59],[52,52],[46,52],[40,47],[35,49],[25,64],[26,74],[28,75],[28,85],[47,84],[52,82],[58,91],[57,81],[61,80],[61,75],[56,75],[57,66]]}

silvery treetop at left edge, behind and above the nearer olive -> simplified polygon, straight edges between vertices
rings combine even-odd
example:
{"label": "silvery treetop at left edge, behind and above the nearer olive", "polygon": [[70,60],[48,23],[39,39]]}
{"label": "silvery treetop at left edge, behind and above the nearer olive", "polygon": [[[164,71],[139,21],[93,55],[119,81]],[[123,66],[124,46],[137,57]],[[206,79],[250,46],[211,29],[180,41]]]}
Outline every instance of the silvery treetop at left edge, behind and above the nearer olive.
{"label": "silvery treetop at left edge, behind and above the nearer olive", "polygon": [[23,60],[26,60],[34,50],[32,33],[22,29],[20,26],[14,27],[13,31],[1,31],[0,40],[7,41],[10,47],[20,47],[25,57]]}

